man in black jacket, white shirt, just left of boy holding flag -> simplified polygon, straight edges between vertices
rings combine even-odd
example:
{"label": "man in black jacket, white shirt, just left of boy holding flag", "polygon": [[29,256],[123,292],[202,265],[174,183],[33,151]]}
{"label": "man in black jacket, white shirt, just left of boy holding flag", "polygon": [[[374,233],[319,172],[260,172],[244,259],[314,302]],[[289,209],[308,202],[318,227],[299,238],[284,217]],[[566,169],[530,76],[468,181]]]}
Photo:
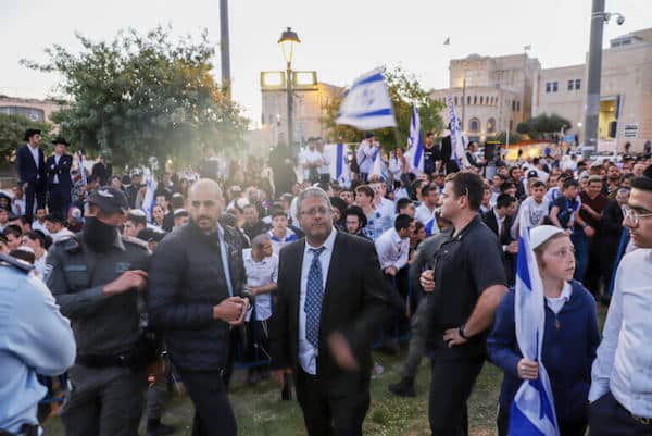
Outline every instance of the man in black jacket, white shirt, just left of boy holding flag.
{"label": "man in black jacket, white shirt, just left of boy holding flag", "polygon": [[505,275],[510,286],[514,285],[516,278],[516,252],[518,251],[518,240],[512,237],[511,232],[514,225],[516,204],[514,197],[501,194],[496,199],[496,207],[482,213],[482,221],[498,236],[498,241],[502,247]]}

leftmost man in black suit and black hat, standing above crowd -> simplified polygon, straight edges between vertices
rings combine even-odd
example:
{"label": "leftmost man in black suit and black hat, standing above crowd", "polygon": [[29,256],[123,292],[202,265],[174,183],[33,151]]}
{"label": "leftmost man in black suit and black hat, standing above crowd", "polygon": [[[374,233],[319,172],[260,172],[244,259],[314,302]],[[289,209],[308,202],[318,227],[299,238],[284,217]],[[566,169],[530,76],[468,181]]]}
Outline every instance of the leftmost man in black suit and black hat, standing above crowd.
{"label": "leftmost man in black suit and black hat, standing above crowd", "polygon": [[32,221],[34,200],[37,209],[46,205],[46,162],[40,149],[40,130],[28,128],[25,132],[25,144],[16,152],[16,173],[18,185],[25,191],[25,216]]}

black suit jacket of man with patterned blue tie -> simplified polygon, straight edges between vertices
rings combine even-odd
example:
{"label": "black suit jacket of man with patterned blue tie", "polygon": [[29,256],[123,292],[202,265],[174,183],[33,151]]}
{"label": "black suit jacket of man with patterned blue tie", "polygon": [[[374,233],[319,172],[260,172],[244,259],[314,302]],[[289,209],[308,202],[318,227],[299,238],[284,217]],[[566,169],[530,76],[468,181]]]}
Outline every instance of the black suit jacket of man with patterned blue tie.
{"label": "black suit jacket of man with patterned blue tie", "polygon": [[[299,297],[304,249],[302,238],[280,250],[278,298],[269,332],[275,369],[300,368]],[[337,233],[327,274],[319,321],[317,375],[328,378],[344,373],[335,363],[327,344],[328,336],[338,331],[347,338],[360,374],[368,377],[371,344],[380,327],[391,321],[392,309],[399,309],[398,294],[383,276],[374,244],[356,236]]]}

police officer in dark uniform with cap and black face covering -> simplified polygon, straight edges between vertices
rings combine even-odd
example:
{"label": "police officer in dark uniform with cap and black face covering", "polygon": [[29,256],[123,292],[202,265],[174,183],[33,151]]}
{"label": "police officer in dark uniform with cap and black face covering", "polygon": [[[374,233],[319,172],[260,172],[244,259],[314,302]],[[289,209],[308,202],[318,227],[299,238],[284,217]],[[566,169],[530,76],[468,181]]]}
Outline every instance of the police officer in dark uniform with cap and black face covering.
{"label": "police officer in dark uniform with cap and black face covering", "polygon": [[149,252],[122,239],[127,209],[121,190],[99,188],[84,231],[54,244],[46,261],[46,283],[77,340],[62,413],[67,436],[138,434],[146,381],[138,297]]}

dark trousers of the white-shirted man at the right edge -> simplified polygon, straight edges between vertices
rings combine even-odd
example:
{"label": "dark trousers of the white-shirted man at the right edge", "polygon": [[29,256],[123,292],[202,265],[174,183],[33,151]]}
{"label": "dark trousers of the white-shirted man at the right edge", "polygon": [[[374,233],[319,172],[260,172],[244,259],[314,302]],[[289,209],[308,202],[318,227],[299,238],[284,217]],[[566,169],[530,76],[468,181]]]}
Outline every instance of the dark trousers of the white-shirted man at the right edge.
{"label": "dark trousers of the white-shirted man at the right edge", "polygon": [[642,424],[606,393],[589,406],[589,436],[650,436],[652,424]]}

